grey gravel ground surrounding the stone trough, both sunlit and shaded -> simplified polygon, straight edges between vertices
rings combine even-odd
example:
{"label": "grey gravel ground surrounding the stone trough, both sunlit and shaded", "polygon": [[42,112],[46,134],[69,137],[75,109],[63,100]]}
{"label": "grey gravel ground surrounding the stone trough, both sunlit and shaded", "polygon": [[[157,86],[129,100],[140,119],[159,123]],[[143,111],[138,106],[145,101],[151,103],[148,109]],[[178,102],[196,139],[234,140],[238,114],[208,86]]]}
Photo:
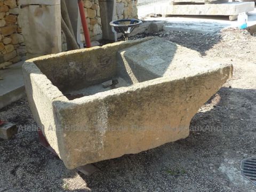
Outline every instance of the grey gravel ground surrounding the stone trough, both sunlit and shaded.
{"label": "grey gravel ground surrounding the stone trough, both sunlit and shaded", "polygon": [[149,35],[234,65],[234,77],[192,119],[189,137],[95,163],[100,171],[85,176],[67,170],[39,145],[23,98],[0,110],[1,119],[21,127],[11,140],[0,139],[0,192],[256,191],[240,171],[242,159],[256,156],[256,37],[238,29],[214,36],[173,31]]}

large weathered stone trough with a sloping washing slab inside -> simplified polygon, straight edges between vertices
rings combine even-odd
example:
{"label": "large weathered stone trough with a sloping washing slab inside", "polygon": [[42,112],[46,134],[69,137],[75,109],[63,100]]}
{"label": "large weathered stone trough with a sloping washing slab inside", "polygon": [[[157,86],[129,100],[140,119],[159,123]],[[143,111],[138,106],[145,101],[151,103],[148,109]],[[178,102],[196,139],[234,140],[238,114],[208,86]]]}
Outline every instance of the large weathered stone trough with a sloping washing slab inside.
{"label": "large weathered stone trough with a sloping washing slab inside", "polygon": [[23,65],[35,121],[68,169],[186,138],[191,118],[232,72],[153,37]]}

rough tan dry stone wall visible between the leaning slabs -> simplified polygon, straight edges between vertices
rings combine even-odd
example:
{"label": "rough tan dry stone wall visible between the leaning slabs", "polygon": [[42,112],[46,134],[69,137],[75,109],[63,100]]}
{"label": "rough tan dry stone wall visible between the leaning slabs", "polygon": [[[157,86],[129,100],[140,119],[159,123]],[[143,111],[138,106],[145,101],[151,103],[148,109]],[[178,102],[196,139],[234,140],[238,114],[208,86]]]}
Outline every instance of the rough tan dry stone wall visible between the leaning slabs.
{"label": "rough tan dry stone wall visible between the leaning slabs", "polygon": [[[116,0],[114,19],[137,18],[136,2]],[[0,0],[0,69],[19,62],[26,55],[26,46],[19,22],[19,0]],[[102,38],[100,7],[94,0],[84,0],[84,10],[91,41]],[[81,26],[81,40],[85,42]]]}

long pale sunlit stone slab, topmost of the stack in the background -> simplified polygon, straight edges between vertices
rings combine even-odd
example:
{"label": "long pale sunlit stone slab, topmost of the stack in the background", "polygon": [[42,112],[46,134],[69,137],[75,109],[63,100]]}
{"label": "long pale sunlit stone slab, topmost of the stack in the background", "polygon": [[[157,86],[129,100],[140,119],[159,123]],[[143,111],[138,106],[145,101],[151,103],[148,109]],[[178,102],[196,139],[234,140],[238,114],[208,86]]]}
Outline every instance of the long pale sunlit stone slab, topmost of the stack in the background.
{"label": "long pale sunlit stone slab, topmost of the stack in the background", "polygon": [[162,15],[238,15],[254,10],[254,2],[228,2],[202,5],[156,6],[156,14]]}

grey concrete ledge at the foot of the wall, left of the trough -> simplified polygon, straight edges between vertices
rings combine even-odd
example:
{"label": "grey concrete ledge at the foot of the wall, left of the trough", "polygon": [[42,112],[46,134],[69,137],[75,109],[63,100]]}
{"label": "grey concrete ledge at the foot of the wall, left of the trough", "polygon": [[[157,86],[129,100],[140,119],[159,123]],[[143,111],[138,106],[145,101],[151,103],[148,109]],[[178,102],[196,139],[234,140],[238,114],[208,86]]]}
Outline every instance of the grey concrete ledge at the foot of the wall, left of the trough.
{"label": "grey concrete ledge at the foot of the wall, left of the trough", "polygon": [[25,86],[22,76],[23,62],[12,65],[9,69],[0,70],[0,109],[24,97]]}

